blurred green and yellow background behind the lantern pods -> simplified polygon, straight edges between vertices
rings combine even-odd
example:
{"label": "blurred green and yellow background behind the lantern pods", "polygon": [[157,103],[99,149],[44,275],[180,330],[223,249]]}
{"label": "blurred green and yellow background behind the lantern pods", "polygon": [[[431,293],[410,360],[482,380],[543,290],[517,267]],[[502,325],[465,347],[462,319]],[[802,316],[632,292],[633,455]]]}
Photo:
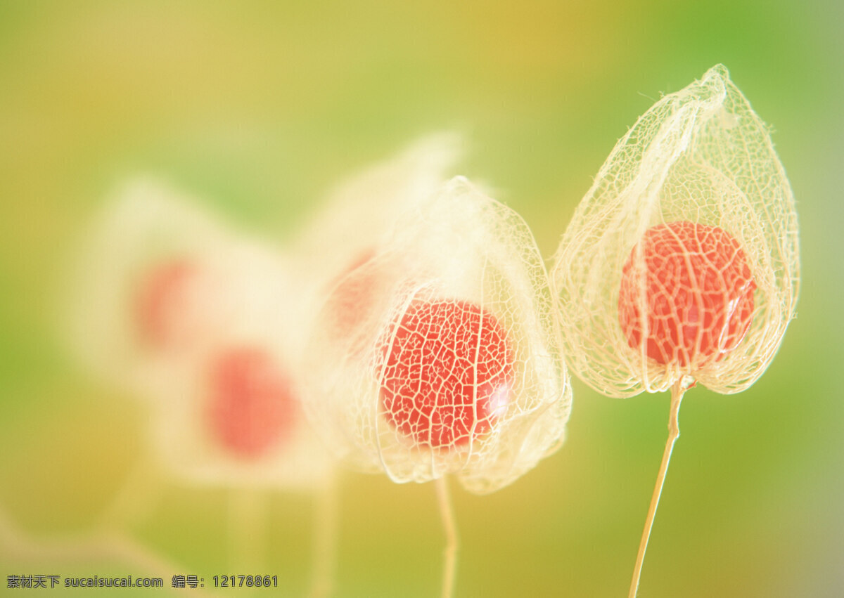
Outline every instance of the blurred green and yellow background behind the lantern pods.
{"label": "blurred green and yellow background behind the lantern pods", "polygon": [[[723,62],[792,181],[803,288],[749,391],[686,396],[641,595],[842,595],[842,28],[831,0],[3,0],[0,506],[35,538],[84,533],[147,450],[142,406],[80,372],[53,317],[64,257],[125,176],[158,175],[284,243],[338,180],[453,128],[463,174],[551,256],[636,116]],[[490,496],[454,486],[457,595],[625,595],[667,422],[667,395],[576,381],[558,453]],[[280,594],[306,593],[311,496],[274,495],[259,569],[233,571],[225,491],[163,492],[127,533],[173,574],[277,574]],[[348,473],[339,496],[337,595],[436,595],[434,488]],[[139,569],[0,542],[0,594],[8,574]]]}

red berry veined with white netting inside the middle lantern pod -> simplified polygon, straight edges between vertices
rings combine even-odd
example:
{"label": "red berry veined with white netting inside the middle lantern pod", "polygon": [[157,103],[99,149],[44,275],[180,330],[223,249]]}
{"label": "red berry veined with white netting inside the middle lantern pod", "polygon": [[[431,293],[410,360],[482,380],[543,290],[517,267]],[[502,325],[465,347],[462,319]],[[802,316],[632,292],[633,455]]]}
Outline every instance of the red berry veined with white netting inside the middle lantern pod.
{"label": "red berry veined with white netting inside the middle lantern pod", "polygon": [[511,401],[514,360],[495,316],[467,301],[414,300],[385,347],[381,408],[417,444],[468,444]]}

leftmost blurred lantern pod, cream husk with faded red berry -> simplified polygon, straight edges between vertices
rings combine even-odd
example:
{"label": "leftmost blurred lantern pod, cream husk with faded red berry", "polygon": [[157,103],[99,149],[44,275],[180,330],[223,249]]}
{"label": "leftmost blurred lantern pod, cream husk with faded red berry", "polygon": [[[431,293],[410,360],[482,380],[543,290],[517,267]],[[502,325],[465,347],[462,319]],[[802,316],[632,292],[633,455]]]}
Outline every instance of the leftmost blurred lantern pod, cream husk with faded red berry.
{"label": "leftmost blurred lantern pod, cream husk with faded red berry", "polygon": [[145,388],[162,362],[228,326],[231,243],[190,197],[150,179],[123,185],[69,268],[61,311],[74,356],[113,385]]}

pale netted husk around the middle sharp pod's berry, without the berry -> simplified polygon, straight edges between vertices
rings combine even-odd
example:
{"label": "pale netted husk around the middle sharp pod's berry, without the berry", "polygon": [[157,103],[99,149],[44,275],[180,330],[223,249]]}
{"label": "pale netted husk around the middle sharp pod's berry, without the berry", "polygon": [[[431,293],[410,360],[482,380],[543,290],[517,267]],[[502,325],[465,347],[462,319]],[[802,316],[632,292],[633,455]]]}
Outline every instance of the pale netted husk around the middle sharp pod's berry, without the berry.
{"label": "pale netted husk around the middle sharp pod's berry, without the berry", "polygon": [[[426,301],[471,304],[506,335],[512,372],[506,407],[464,444],[419,442],[385,412],[384,376],[398,322],[410,305]],[[384,471],[394,482],[455,473],[474,493],[506,486],[565,433],[571,386],[553,304],[522,218],[458,177],[409,209],[371,259],[328,294],[306,350],[306,411],[334,452],[362,471]],[[478,338],[483,334],[479,329]]]}

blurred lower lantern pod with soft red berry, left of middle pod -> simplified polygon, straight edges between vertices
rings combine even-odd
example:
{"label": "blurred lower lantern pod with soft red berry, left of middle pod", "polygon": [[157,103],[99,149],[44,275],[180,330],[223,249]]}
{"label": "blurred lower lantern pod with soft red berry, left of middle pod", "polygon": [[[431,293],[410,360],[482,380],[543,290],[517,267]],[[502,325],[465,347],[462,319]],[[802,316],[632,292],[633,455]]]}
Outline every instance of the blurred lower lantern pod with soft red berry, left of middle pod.
{"label": "blurred lower lantern pod with soft red berry, left of middle pod", "polygon": [[[289,263],[257,243],[233,244],[219,293],[235,292],[213,336],[172,358],[152,390],[154,447],[193,482],[310,488],[330,459],[300,404],[295,361],[304,332]],[[215,295],[212,294],[212,297]]]}

